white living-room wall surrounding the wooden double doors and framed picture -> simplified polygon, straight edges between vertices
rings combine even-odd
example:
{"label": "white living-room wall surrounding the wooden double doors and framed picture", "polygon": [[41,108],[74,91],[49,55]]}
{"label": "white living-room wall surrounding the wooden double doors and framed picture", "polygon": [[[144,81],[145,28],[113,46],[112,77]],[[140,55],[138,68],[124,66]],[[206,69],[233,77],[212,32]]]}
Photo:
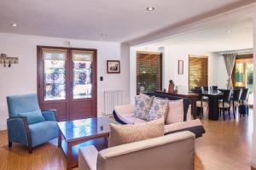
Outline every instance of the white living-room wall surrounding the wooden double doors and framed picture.
{"label": "white living-room wall surrounding the wooden double doors and framed picture", "polygon": [[[125,89],[129,90],[129,57],[121,56],[120,44],[116,42],[92,42],[54,37],[36,37],[0,33],[0,53],[19,57],[19,64],[11,68],[0,65],[0,129],[6,128],[8,118],[6,96],[37,92],[37,45],[68,46],[73,48],[96,48],[97,54],[97,110],[101,114],[104,108],[103,91]],[[122,50],[125,48],[122,48]],[[129,49],[126,49],[126,51]],[[123,53],[122,53],[123,54]],[[121,73],[107,74],[106,60],[120,59]],[[99,77],[104,77],[100,82]],[[127,96],[129,99],[129,96]]]}

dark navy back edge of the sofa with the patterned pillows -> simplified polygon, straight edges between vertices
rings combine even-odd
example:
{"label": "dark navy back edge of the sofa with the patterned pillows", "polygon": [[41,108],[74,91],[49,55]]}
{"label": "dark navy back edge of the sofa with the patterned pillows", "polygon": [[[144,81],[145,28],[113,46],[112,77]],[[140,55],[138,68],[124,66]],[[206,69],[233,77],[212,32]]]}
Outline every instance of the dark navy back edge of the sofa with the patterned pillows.
{"label": "dark navy back edge of the sofa with the patterned pillows", "polygon": [[183,99],[183,121],[187,121],[187,114],[189,110],[190,99],[177,97],[172,94],[157,94],[157,93],[146,93],[146,94],[148,94],[149,96],[155,96],[158,98],[169,99],[169,100]]}

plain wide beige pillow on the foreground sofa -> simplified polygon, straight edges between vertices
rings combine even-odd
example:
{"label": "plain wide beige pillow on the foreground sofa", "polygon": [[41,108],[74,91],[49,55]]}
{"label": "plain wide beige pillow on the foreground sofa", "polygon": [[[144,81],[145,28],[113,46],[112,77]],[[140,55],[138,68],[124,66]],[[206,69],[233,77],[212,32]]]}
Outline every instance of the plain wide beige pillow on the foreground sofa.
{"label": "plain wide beige pillow on the foreground sofa", "polygon": [[164,135],[164,119],[129,125],[110,124],[108,147]]}

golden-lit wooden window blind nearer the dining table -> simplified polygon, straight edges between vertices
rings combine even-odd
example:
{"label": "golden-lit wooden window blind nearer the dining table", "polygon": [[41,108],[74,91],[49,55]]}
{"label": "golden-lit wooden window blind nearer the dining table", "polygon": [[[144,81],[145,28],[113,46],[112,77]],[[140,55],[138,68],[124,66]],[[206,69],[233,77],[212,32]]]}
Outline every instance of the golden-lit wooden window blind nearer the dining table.
{"label": "golden-lit wooden window blind nearer the dining table", "polygon": [[208,57],[189,55],[189,89],[208,86]]}

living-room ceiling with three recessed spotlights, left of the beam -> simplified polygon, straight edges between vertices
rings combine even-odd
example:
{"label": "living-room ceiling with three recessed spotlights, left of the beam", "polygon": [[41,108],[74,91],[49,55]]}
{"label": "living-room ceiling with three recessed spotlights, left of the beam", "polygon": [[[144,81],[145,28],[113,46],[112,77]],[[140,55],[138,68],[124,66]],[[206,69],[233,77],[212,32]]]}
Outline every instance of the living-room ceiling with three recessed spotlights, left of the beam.
{"label": "living-room ceiling with three recessed spotlights, left of the beam", "polygon": [[[0,32],[125,42],[166,26],[254,0],[6,0]],[[148,12],[147,7],[155,10]],[[212,13],[213,14],[213,13]],[[18,27],[10,26],[17,23]],[[106,34],[106,37],[102,37]]]}

